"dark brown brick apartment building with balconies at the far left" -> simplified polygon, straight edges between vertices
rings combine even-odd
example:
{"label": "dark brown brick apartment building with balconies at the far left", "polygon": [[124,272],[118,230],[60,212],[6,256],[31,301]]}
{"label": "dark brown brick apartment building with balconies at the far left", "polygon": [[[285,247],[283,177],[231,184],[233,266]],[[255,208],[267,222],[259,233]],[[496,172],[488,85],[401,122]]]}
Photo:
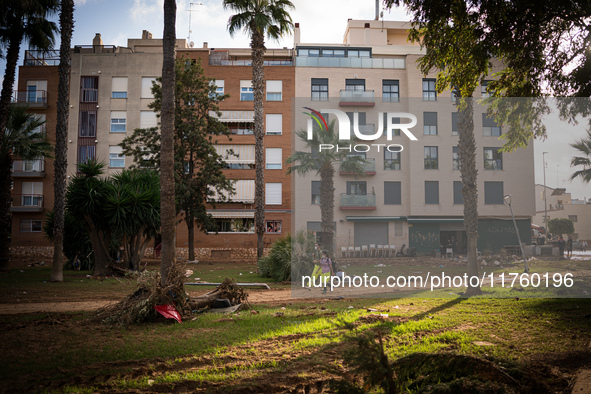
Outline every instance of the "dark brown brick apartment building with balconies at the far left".
{"label": "dark brown brick apartment building with balconies at the far left", "polygon": [[[12,100],[12,105],[26,106],[28,112],[45,120],[39,131],[46,133],[52,143],[57,121],[58,64],[59,52],[26,51]],[[16,157],[12,179],[13,247],[49,247],[43,224],[47,211],[53,208],[53,161]]]}

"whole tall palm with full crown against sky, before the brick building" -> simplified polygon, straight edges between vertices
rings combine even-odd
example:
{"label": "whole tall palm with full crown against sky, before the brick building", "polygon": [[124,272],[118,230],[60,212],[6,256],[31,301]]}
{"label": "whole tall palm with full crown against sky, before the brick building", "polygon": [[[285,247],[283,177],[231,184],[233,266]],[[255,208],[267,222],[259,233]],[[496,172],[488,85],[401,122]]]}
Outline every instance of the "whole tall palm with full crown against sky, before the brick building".
{"label": "whole tall palm with full crown against sky, before the brick building", "polygon": [[288,10],[294,9],[289,0],[224,0],[224,8],[237,12],[228,21],[228,31],[234,36],[244,29],[250,35],[252,49],[252,87],[254,95],[255,137],[255,228],[257,233],[257,258],[263,256],[265,232],[265,179],[263,173],[263,91],[265,35],[278,40],[288,34],[293,23]]}

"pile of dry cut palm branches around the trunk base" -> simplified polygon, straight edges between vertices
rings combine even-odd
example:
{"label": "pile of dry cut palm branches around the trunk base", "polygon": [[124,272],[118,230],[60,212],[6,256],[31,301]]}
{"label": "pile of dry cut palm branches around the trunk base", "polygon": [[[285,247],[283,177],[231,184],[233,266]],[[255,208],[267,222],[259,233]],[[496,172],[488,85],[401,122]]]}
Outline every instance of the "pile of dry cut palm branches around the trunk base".
{"label": "pile of dry cut palm branches around the trunk base", "polygon": [[173,264],[165,286],[160,284],[160,272],[141,272],[138,288],[132,294],[117,304],[99,309],[92,319],[108,325],[127,326],[157,319],[159,316],[154,310],[155,305],[172,304],[182,317],[188,317],[197,309],[209,307],[218,298],[226,298],[232,305],[248,300],[248,293],[228,278],[209,293],[188,297],[184,286],[185,272],[184,265]]}

